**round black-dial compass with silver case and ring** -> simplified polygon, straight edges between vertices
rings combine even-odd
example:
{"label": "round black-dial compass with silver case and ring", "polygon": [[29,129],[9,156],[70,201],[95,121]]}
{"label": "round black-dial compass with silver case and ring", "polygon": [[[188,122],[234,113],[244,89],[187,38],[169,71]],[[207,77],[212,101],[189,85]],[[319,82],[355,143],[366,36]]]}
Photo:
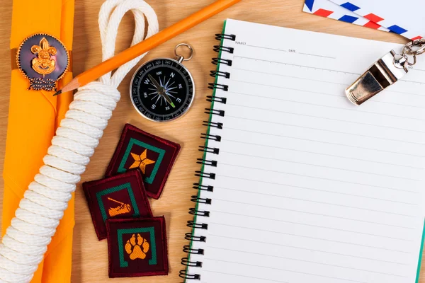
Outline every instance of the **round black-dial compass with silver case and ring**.
{"label": "round black-dial compass with silver case and ring", "polygon": [[[191,52],[187,59],[177,54],[181,46]],[[132,104],[142,116],[155,122],[181,117],[189,110],[195,97],[191,73],[182,64],[193,57],[193,49],[181,43],[174,53],[176,59],[157,58],[142,64],[130,83]]]}

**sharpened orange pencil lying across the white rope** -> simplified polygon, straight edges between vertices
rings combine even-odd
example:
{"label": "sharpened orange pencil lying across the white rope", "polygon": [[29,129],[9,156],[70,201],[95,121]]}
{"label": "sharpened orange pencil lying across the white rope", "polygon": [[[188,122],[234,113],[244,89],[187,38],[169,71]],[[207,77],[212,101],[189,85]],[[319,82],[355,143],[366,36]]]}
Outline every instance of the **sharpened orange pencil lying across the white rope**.
{"label": "sharpened orange pencil lying across the white rope", "polygon": [[71,82],[69,82],[66,86],[64,86],[60,91],[55,93],[55,96],[62,92],[74,91],[74,89],[79,88],[80,86],[84,86],[87,83],[98,79],[109,71],[113,71],[120,67],[121,65],[129,62],[131,59],[152,50],[154,47],[161,45],[162,43],[170,40],[171,38],[179,35],[189,28],[193,28],[198,23],[202,23],[206,19],[214,16],[217,13],[229,8],[233,4],[236,4],[241,0],[217,0],[214,3],[206,6],[200,11],[193,13],[191,16],[175,23],[174,25],[165,28],[161,32],[156,35],[152,35],[152,37],[143,40],[137,45],[133,45],[132,47],[120,52],[115,55],[111,59],[108,59],[97,66],[84,71],[83,73],[76,76]]}

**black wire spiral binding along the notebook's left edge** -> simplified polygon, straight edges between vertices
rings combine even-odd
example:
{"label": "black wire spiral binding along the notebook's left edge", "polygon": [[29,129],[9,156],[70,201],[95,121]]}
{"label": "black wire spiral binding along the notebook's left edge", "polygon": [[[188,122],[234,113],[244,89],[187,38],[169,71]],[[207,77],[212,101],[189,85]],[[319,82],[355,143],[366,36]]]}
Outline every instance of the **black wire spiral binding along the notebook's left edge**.
{"label": "black wire spiral binding along the notebook's left edge", "polygon": [[[235,35],[226,35],[224,33],[217,33],[215,35],[216,40],[236,40]],[[222,45],[215,45],[214,46],[215,52],[228,52],[233,53],[234,48],[233,47],[225,47]],[[227,64],[227,66],[232,66],[232,60],[229,59],[222,59],[222,58],[212,58],[212,64]],[[225,79],[230,78],[230,74],[225,71],[210,71],[210,76],[217,77],[221,76]],[[208,88],[211,89],[220,89],[221,91],[229,91],[229,86],[221,83],[209,83]],[[224,97],[218,97],[218,96],[207,96],[207,101],[209,102],[215,102],[215,103],[222,103],[226,104],[227,98]],[[212,108],[205,108],[205,113],[209,115],[218,115],[221,117],[225,116],[224,110],[217,110]],[[212,121],[203,121],[203,125],[207,127],[215,127],[217,129],[223,129],[223,124],[220,122],[212,122]],[[202,139],[210,139],[213,141],[221,141],[221,136],[217,134],[201,134],[200,136]],[[199,151],[203,151],[205,153],[210,154],[220,154],[220,149],[217,149],[215,147],[209,147],[205,144],[205,146],[199,146]],[[217,161],[214,160],[207,160],[204,158],[198,158],[197,160],[198,164],[202,164],[203,166],[211,166],[211,167],[217,167]],[[209,179],[215,179],[215,173],[207,173],[203,171],[196,171],[195,175],[200,178],[209,178]],[[193,183],[193,189],[196,189],[198,191],[207,191],[207,192],[213,192],[214,187],[212,185],[201,185],[200,183]],[[210,198],[203,198],[199,197],[199,195],[193,195],[191,196],[191,201],[196,202],[199,204],[211,204],[212,200]],[[190,208],[189,214],[193,216],[201,216],[201,217],[210,217],[210,212],[206,210],[198,210],[198,206],[196,208]],[[199,219],[198,219],[199,220]],[[208,224],[196,222],[194,220],[190,220],[186,224],[188,227],[191,227],[192,229],[203,229],[208,230]],[[185,237],[186,240],[191,242],[206,242],[207,238],[205,236],[196,236],[193,233],[186,233]],[[204,250],[202,248],[192,248],[192,246],[184,246],[183,252],[189,254],[196,254],[196,255],[203,255]],[[185,265],[186,267],[202,267],[202,262],[200,261],[191,261],[189,258],[182,258],[181,264]],[[200,280],[200,275],[198,274],[189,274],[186,270],[181,270],[179,272],[179,277],[183,279],[188,280]]]}

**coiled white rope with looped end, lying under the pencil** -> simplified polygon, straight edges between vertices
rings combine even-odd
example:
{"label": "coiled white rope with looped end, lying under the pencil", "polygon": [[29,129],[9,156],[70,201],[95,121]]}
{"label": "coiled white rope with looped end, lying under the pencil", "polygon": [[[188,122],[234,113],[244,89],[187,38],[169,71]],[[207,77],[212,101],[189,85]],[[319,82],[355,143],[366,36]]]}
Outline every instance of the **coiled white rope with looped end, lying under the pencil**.
{"label": "coiled white rope with looped end, lying under the pencil", "polygon": [[[103,61],[113,57],[118,25],[124,14],[135,16],[132,45],[158,32],[157,15],[142,0],[106,0],[99,13]],[[124,64],[111,76],[79,88],[43,158],[40,173],[28,186],[11,226],[0,243],[0,283],[30,282],[47,245],[67,209],[71,193],[108,125],[120,93],[118,85],[145,54]]]}

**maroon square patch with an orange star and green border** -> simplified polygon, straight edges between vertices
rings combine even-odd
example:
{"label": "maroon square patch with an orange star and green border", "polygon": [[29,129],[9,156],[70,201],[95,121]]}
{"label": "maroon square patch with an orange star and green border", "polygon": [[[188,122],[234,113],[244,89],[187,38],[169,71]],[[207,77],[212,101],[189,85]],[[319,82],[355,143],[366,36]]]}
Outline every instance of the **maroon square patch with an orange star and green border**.
{"label": "maroon square patch with an orange star and green border", "polygon": [[143,173],[147,195],[158,199],[179,151],[179,144],[126,124],[106,176],[137,168]]}

